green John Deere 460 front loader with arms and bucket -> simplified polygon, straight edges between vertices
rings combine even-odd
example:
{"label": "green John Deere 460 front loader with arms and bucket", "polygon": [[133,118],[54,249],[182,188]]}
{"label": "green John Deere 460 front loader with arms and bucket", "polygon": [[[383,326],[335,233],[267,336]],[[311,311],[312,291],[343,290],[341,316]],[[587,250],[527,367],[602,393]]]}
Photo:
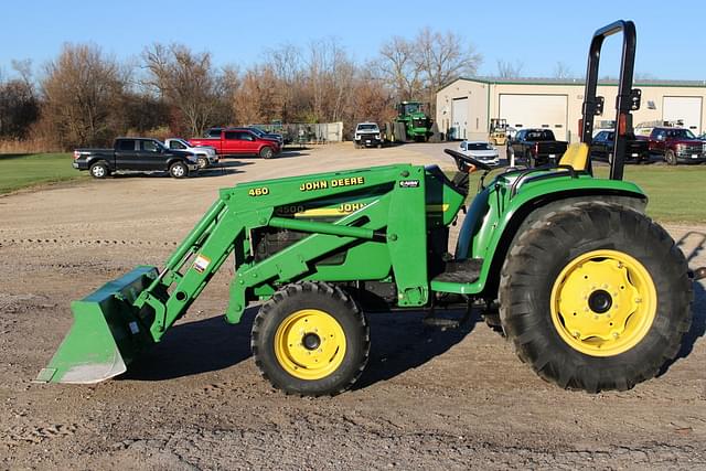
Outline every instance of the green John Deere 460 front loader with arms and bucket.
{"label": "green John Deere 460 front loader with arms and bucket", "polygon": [[[426,304],[427,259],[417,256],[427,251],[425,176],[422,167],[402,164],[248,182],[221,190],[218,200],[159,274],[154,267],[140,267],[126,278],[131,288],[114,281],[97,291],[103,296],[100,303],[90,297],[74,303],[74,317],[82,322],[75,322],[42,379],[61,382],[69,370],[79,379],[76,382],[121,373],[137,352],[159,342],[188,311],[231,254],[235,276],[225,314],[231,323],[240,320],[249,302],[285,283],[315,279],[320,269],[328,279],[338,281],[391,279],[397,288],[398,306]],[[353,202],[341,205],[351,211],[321,208],[331,201]],[[357,203],[361,201],[364,203]],[[441,201],[432,203],[441,206]],[[306,217],[307,211],[304,217],[281,211],[304,206],[334,216],[322,221]],[[460,200],[451,211],[458,206]],[[270,229],[287,229],[301,238],[258,259],[254,249],[258,234]],[[323,264],[332,254],[343,261]],[[105,327],[108,320],[109,332]],[[113,335],[111,342],[101,341],[110,344],[108,353],[87,346],[83,339],[94,332],[103,332],[103,339]],[[76,371],[77,357],[88,358],[81,373]],[[97,364],[104,373],[95,373]]]}

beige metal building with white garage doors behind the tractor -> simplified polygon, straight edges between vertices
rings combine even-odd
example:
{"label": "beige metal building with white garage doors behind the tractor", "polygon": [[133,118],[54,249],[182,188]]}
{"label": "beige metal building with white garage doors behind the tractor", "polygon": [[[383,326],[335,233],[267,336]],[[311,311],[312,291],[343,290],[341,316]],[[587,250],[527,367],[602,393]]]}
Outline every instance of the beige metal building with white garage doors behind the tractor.
{"label": "beige metal building with white garage doors behind the tractor", "polygon": [[[642,107],[633,124],[681,121],[695,135],[706,130],[706,81],[649,81],[642,89]],[[600,82],[606,113],[596,120],[612,120],[618,86]],[[437,93],[436,122],[449,139],[488,139],[491,118],[504,118],[515,129],[552,129],[559,140],[577,141],[584,103],[579,79],[459,78]]]}

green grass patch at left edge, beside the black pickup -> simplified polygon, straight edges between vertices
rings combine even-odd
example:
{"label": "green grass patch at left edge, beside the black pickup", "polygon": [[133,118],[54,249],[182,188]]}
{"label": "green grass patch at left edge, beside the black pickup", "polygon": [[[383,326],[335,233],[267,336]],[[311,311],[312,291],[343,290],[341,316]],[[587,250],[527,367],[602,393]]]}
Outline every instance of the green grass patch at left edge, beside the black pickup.
{"label": "green grass patch at left edge, beside the black pickup", "polygon": [[71,153],[0,154],[0,194],[28,186],[86,178],[71,167]]}

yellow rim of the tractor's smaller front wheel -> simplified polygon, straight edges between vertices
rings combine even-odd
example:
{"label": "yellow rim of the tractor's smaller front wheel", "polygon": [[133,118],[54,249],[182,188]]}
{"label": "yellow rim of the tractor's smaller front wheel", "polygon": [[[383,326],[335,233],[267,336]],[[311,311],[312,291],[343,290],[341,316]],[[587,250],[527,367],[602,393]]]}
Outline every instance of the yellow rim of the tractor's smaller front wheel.
{"label": "yellow rim of the tractor's smaller front wheel", "polygon": [[280,366],[300,379],[321,379],[345,356],[345,333],[331,314],[303,309],[287,317],[275,333],[275,355]]}

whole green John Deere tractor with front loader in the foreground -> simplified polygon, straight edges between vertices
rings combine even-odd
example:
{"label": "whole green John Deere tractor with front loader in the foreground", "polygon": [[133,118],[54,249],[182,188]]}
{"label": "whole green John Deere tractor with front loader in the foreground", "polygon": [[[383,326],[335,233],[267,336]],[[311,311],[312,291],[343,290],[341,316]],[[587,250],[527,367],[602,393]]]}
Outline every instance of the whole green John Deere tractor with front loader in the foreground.
{"label": "whole green John Deere tractor with front loader in the foreground", "polygon": [[[589,146],[598,58],[623,32],[616,152],[593,176]],[[366,315],[446,309],[498,314],[520,357],[563,388],[628,389],[677,354],[692,319],[693,279],[670,235],[644,214],[642,190],[622,181],[635,31],[596,32],[581,143],[558,164],[507,169],[470,202],[454,254],[449,225],[464,206],[469,171],[490,168],[448,150],[459,169],[395,164],[237,184],[220,197],[162,268],[141,266],[72,303],[74,324],[38,381],[95,383],[124,373],[160,342],[218,268],[233,260],[225,320],[260,302],[252,351],[286,393],[350,388],[371,345]],[[485,175],[483,175],[485,176]],[[493,312],[493,306],[499,310]],[[462,322],[460,319],[458,322]]]}

